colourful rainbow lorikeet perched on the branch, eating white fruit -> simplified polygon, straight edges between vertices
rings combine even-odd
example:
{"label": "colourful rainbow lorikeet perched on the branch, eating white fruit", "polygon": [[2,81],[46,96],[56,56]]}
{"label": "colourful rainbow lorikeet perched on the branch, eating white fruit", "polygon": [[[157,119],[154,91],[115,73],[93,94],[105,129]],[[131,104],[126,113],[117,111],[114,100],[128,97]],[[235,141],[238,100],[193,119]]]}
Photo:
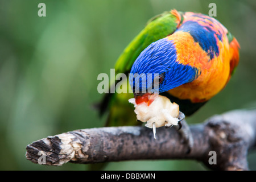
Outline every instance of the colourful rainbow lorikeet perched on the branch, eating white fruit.
{"label": "colourful rainbow lorikeet perched on the branch, eating white fruit", "polygon": [[[239,48],[236,38],[218,20],[171,10],[148,21],[119,56],[115,74],[158,73],[159,94],[188,116],[225,87],[238,65]],[[127,82],[126,89],[129,87]],[[105,94],[100,113],[109,108],[108,126],[138,125],[128,100],[142,95]]]}

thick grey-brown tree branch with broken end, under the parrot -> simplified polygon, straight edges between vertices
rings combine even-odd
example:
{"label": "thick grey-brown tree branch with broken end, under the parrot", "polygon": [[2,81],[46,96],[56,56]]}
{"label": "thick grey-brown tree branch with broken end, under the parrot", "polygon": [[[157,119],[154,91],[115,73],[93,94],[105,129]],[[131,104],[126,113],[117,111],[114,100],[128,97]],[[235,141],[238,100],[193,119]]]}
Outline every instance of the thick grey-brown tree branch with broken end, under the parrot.
{"label": "thick grey-brown tree branch with broken end, under the parrot", "polygon": [[[256,110],[235,110],[190,126],[194,139],[191,152],[173,128],[160,127],[156,140],[151,129],[140,126],[102,127],[70,131],[40,139],[27,146],[26,158],[44,164],[102,163],[140,159],[195,159],[211,169],[247,170],[247,151],[255,147]],[[209,151],[217,163],[210,165]]]}

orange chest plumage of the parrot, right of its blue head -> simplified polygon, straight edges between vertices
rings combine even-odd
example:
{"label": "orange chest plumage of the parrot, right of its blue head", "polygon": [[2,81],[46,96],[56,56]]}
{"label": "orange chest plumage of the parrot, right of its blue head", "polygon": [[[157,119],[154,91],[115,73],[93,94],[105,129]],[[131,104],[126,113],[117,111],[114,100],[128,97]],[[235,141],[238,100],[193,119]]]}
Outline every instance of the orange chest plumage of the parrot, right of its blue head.
{"label": "orange chest plumage of the parrot, right of its blue head", "polygon": [[192,102],[203,102],[224,88],[229,80],[231,59],[227,38],[217,42],[219,55],[214,56],[212,60],[188,32],[175,32],[168,36],[168,39],[176,46],[176,61],[196,67],[200,73],[196,80],[169,90],[172,96]]}

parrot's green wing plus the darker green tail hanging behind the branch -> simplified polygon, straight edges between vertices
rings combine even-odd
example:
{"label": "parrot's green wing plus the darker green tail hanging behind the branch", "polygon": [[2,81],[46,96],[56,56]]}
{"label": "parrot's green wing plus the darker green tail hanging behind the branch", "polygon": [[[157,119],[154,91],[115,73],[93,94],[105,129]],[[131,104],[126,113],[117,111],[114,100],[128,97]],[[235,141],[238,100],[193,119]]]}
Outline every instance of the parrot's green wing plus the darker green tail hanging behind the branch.
{"label": "parrot's green wing plus the darker green tail hanging behind the branch", "polygon": [[[156,40],[172,34],[181,23],[181,15],[176,10],[164,12],[150,19],[146,27],[124,49],[115,64],[115,74],[125,73],[128,76],[130,69],[139,54]],[[115,86],[117,82],[110,86]],[[136,125],[134,106],[128,102],[133,98],[129,93],[129,83],[123,84],[127,93],[106,94],[100,105],[100,113],[103,114],[109,107],[107,126]],[[138,122],[137,122],[138,123]]]}

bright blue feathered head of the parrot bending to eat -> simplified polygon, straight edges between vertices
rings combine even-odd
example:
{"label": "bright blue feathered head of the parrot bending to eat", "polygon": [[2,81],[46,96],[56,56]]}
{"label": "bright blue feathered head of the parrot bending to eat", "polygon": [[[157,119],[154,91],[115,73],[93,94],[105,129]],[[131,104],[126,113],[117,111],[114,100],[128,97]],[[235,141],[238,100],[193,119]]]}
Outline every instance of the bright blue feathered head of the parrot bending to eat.
{"label": "bright blue feathered head of the parrot bending to eat", "polygon": [[[145,93],[162,93],[195,80],[197,69],[177,60],[172,40],[151,43],[135,60],[129,82],[135,98]],[[138,103],[137,103],[138,104]]]}

